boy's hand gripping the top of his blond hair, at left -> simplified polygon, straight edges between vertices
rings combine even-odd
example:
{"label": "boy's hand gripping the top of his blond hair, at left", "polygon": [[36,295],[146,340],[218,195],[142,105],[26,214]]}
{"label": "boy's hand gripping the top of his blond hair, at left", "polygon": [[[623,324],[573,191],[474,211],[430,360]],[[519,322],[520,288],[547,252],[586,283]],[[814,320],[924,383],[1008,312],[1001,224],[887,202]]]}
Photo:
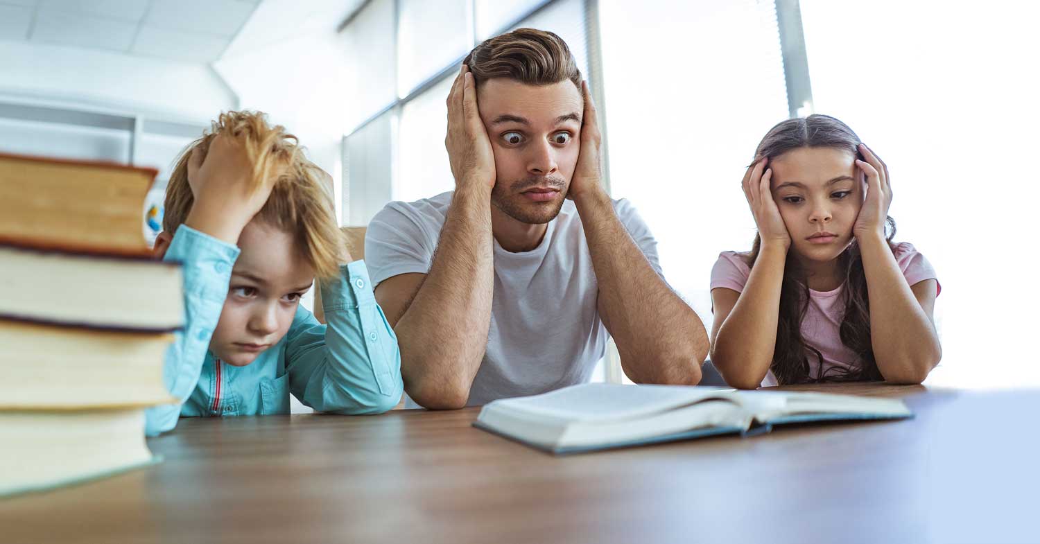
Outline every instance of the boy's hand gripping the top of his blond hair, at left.
{"label": "boy's hand gripping the top of his blond hair, at left", "polygon": [[188,227],[236,243],[242,229],[263,208],[281,169],[255,180],[253,161],[241,139],[217,134],[205,159],[199,150],[188,159],[188,185],[194,204],[184,222]]}

